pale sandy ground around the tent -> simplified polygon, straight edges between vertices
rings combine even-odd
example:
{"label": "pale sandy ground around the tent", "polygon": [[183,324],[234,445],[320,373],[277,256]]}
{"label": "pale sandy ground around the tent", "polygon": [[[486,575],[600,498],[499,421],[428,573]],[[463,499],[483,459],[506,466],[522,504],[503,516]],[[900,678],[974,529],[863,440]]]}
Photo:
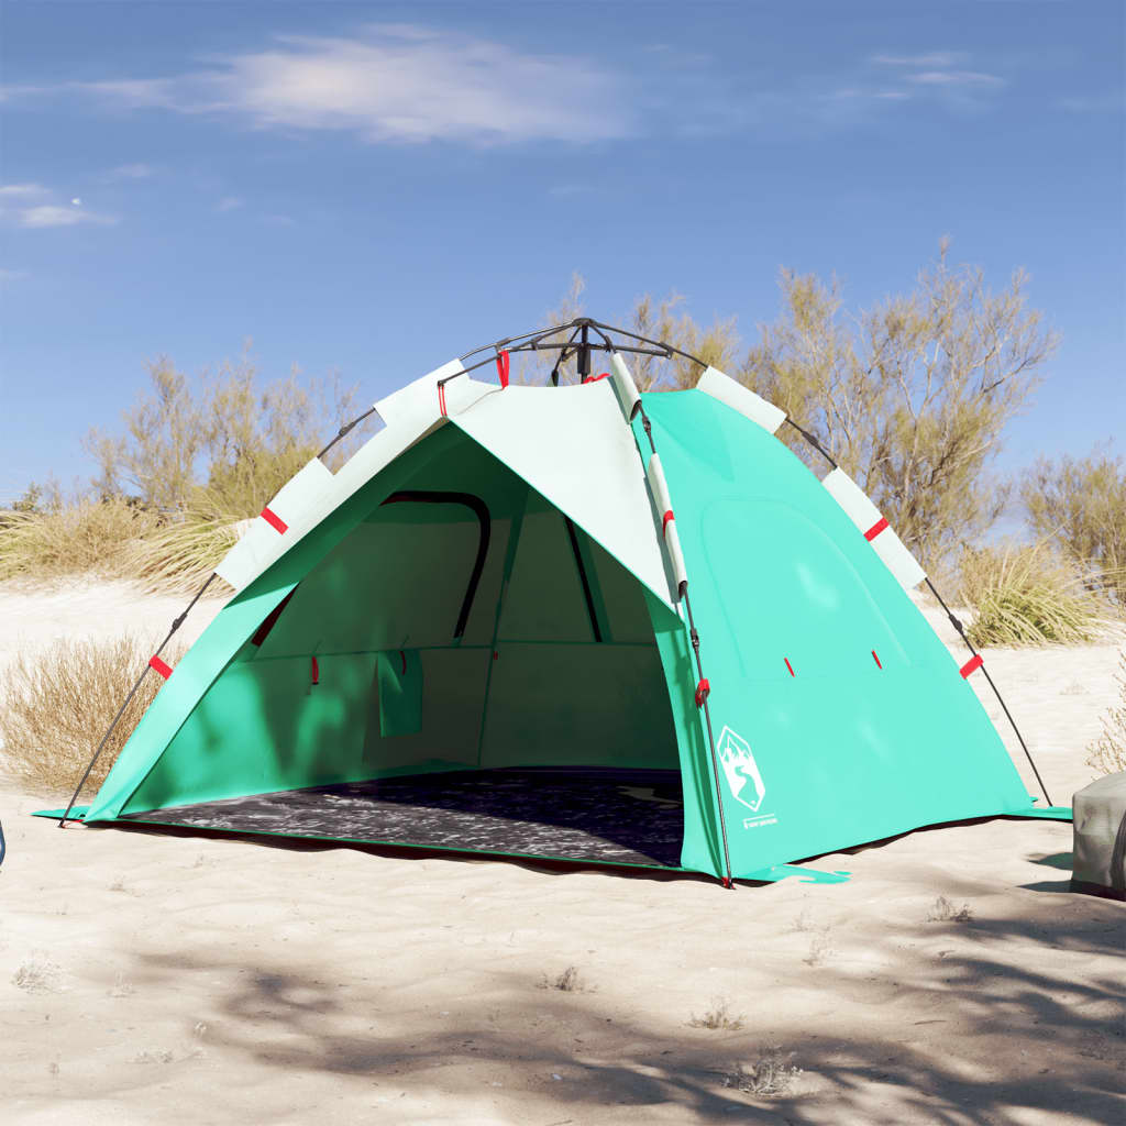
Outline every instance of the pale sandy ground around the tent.
{"label": "pale sandy ground around the tent", "polygon": [[[0,588],[0,672],[184,601]],[[1070,802],[1117,646],[986,660]],[[848,883],[724,892],[60,831],[43,804],[0,781],[5,1123],[1126,1120],[1126,906],[1067,892],[1067,824],[929,830],[815,863]],[[971,918],[933,920],[939,896]],[[580,989],[544,988],[569,966]],[[691,1026],[722,1002],[742,1027]],[[785,1093],[725,1085],[770,1058],[801,1069]]]}

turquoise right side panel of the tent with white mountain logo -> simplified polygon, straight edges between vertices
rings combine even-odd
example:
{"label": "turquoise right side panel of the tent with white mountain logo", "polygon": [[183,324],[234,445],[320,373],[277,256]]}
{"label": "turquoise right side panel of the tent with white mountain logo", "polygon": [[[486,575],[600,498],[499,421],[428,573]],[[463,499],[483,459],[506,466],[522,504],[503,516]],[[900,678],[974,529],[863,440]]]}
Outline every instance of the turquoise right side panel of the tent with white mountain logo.
{"label": "turquoise right side panel of the tent with white mountain logo", "polygon": [[[956,661],[820,481],[701,392],[644,403],[712,688],[735,874],[1027,808]],[[698,747],[698,712],[695,726]],[[686,867],[705,859],[686,826]]]}

